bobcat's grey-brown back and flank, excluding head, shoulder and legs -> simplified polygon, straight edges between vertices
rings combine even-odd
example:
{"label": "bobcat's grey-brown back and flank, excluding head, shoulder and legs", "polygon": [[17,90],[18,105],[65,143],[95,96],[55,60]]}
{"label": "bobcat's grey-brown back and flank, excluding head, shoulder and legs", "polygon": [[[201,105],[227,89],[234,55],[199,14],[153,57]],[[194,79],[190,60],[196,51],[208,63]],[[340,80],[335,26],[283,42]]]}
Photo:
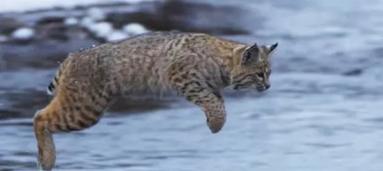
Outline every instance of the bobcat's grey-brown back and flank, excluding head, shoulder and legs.
{"label": "bobcat's grey-brown back and flank, excluding head, shoulder and legs", "polygon": [[123,94],[167,91],[165,70],[181,56],[198,54],[206,58],[203,61],[216,58],[222,65],[231,55],[229,48],[236,45],[198,33],[147,33],[70,54],[49,87],[67,82],[74,88],[77,84],[98,85]]}

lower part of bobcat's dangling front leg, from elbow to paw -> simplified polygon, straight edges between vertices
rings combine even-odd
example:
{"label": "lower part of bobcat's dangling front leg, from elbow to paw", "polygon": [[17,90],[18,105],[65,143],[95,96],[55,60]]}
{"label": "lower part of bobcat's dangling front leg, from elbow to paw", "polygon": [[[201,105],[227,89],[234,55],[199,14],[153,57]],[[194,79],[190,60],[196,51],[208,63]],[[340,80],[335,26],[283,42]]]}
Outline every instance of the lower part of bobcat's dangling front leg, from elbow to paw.
{"label": "lower part of bobcat's dangling front leg, from elbow to paw", "polygon": [[224,100],[220,92],[210,92],[203,88],[196,88],[185,92],[186,98],[201,107],[206,115],[206,123],[212,133],[219,132],[226,122]]}

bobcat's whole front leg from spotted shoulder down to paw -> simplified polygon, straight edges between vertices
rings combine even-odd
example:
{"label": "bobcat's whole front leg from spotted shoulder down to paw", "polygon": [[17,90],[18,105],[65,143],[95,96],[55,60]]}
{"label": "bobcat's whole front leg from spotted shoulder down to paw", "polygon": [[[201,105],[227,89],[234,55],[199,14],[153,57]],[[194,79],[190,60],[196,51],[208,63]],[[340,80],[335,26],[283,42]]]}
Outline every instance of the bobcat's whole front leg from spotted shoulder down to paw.
{"label": "bobcat's whole front leg from spotted shoulder down to paw", "polygon": [[179,56],[165,71],[170,87],[198,105],[206,115],[212,133],[221,130],[226,122],[226,110],[220,86],[215,80],[220,73],[217,64],[203,55]]}

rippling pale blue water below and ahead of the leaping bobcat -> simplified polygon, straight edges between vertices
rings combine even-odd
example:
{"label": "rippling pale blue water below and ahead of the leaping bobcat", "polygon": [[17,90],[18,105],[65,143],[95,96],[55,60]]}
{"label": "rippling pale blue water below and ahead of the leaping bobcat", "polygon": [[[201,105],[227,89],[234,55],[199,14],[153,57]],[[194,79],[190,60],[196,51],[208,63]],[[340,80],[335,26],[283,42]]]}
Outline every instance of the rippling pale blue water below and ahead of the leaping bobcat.
{"label": "rippling pale blue water below and ahead of the leaping bobcat", "polygon": [[[244,23],[254,26],[252,35],[227,38],[280,44],[267,93],[226,98],[228,121],[218,134],[193,105],[114,115],[57,134],[55,170],[380,171],[383,0],[235,5],[263,20]],[[354,69],[362,72],[344,74]],[[0,127],[0,170],[34,170],[31,119]]]}

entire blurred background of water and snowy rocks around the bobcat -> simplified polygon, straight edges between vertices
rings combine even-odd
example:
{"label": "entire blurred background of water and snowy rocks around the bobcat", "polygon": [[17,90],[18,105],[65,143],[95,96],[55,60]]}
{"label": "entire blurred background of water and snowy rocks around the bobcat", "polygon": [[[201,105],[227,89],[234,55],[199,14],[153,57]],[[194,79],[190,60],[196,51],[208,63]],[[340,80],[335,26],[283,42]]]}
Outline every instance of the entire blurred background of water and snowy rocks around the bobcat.
{"label": "entire blurred background of water and snowy rocks around the bobcat", "polygon": [[0,171],[36,169],[34,112],[68,53],[156,30],[279,46],[271,88],[225,90],[211,134],[179,97],[56,134],[60,171],[381,171],[383,0],[12,0],[0,5]]}

